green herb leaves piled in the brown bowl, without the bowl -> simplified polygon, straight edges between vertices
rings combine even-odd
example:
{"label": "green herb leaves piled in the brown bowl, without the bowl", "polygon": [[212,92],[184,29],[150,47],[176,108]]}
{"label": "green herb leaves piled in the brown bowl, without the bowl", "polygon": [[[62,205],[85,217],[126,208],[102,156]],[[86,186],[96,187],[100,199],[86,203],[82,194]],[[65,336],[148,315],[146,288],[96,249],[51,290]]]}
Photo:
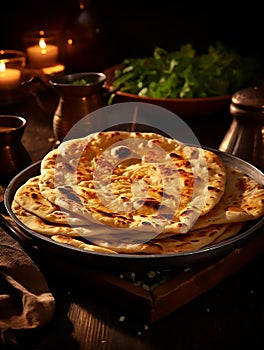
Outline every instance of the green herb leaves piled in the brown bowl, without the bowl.
{"label": "green herb leaves piled in the brown bowl, without the bowl", "polygon": [[153,98],[193,98],[233,94],[258,78],[259,57],[242,57],[220,42],[198,55],[191,44],[153,56],[130,58],[115,71],[113,87]]}

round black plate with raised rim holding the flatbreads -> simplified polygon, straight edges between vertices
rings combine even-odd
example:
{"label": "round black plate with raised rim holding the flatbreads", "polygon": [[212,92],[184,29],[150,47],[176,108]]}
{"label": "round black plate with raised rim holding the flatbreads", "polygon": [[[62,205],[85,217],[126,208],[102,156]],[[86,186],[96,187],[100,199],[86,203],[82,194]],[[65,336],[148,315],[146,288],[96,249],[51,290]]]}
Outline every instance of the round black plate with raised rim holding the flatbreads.
{"label": "round black plate with raised rim holding the flatbreads", "polygon": [[[209,148],[210,149],[210,148]],[[264,185],[264,174],[253,165],[233,155],[210,149],[217,153],[226,165],[238,168],[258,183]],[[213,261],[240,247],[253,234],[259,234],[260,227],[264,223],[264,217],[248,223],[248,225],[236,236],[221,243],[205,247],[199,250],[175,254],[139,255],[139,254],[105,254],[90,252],[79,248],[64,245],[52,241],[49,237],[36,233],[23,225],[11,210],[11,203],[16,190],[29,178],[40,173],[40,162],[37,162],[21,171],[8,185],[5,191],[4,203],[8,214],[21,229],[17,238],[25,243],[37,246],[42,252],[55,254],[57,258],[71,259],[74,263],[80,263],[83,267],[92,267],[113,271],[147,271],[147,270],[176,270],[190,267],[194,264],[203,264]]]}

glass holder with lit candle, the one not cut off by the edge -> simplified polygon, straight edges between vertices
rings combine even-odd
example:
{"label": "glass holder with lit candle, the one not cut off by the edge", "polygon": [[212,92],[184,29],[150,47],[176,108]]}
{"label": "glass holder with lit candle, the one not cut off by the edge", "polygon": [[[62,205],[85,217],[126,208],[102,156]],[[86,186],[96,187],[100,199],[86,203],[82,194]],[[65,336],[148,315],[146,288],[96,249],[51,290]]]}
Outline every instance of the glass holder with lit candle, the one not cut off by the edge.
{"label": "glass holder with lit candle, the one not cut off by the edge", "polygon": [[[31,69],[47,69],[59,65],[59,36],[53,30],[39,30],[24,33],[27,66]],[[62,65],[59,65],[62,66]],[[61,68],[64,70],[64,66]],[[57,69],[58,70],[58,69]]]}

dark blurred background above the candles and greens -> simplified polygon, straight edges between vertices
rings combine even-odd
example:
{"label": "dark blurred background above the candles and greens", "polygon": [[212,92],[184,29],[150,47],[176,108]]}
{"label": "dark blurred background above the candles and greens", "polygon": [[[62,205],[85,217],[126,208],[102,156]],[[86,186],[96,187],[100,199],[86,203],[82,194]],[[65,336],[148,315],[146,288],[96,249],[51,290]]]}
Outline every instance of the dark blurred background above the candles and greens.
{"label": "dark blurred background above the candles and greens", "polygon": [[[263,55],[262,11],[256,0],[91,0],[90,3],[99,16],[104,48],[101,52],[98,47],[93,49],[95,59],[90,66],[86,59],[87,70],[93,69],[95,62],[98,63],[95,68],[103,69],[126,57],[151,55],[155,46],[176,50],[181,44],[191,43],[198,51],[204,51],[218,40],[241,54]],[[67,28],[77,31],[72,28],[76,26],[78,6],[78,0],[6,2],[5,9],[0,11],[0,49],[23,50],[26,31],[52,29],[60,35],[64,59],[65,32]],[[84,24],[80,35],[85,30]],[[89,40],[83,40],[88,46]],[[78,70],[78,67],[69,69]]]}

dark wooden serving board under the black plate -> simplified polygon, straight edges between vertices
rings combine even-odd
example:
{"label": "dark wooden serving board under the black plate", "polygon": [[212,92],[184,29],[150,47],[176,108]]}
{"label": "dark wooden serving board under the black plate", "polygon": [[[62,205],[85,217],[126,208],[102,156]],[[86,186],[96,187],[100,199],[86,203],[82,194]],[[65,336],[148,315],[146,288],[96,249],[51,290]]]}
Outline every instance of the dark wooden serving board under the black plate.
{"label": "dark wooden serving board under the black plate", "polygon": [[66,268],[66,261],[57,261],[53,269],[56,266],[59,271],[67,271],[67,278],[72,272],[76,285],[81,283],[78,288],[84,288],[124,312],[153,323],[216,286],[262,253],[264,230],[260,228],[246,244],[221,259],[177,272],[151,290],[109,272],[84,270],[70,265]]}

